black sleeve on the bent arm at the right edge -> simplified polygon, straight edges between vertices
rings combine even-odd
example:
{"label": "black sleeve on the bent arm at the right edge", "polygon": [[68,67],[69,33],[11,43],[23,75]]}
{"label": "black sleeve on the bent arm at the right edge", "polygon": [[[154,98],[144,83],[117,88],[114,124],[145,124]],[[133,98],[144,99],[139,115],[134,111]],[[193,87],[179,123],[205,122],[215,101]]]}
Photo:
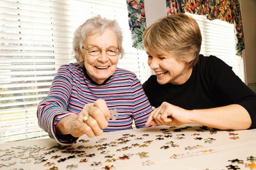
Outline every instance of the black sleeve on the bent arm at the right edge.
{"label": "black sleeve on the bent arm at the right edge", "polygon": [[250,129],[256,128],[256,94],[221,59],[214,57],[210,64],[210,68],[215,70],[212,70],[214,87],[231,104],[244,107],[252,120]]}

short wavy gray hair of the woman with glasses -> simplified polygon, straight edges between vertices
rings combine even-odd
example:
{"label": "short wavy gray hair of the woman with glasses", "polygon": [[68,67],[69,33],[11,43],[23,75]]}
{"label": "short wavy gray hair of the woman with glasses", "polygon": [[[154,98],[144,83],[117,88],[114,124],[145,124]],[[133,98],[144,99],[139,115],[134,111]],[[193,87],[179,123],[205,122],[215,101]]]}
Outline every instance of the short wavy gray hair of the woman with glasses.
{"label": "short wavy gray hair of the woman with glasses", "polygon": [[81,67],[84,67],[84,63],[79,61],[79,56],[82,55],[82,48],[84,41],[89,35],[103,33],[106,28],[110,28],[114,33],[116,33],[117,44],[119,48],[119,57],[122,58],[124,54],[124,49],[122,48],[122,29],[116,20],[109,20],[102,18],[100,15],[92,17],[86,20],[81,26],[76,28],[73,37],[73,54],[76,59],[76,63]]}

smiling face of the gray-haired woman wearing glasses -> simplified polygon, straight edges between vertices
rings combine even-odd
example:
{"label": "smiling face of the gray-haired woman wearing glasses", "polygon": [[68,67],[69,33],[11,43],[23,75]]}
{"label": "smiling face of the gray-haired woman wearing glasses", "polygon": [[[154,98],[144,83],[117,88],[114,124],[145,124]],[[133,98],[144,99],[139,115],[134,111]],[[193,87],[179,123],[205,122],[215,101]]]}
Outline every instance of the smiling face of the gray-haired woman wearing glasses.
{"label": "smiling face of the gray-haired woman wearing glasses", "polygon": [[103,34],[88,36],[83,47],[89,51],[94,48],[100,49],[101,53],[96,56],[88,54],[88,51],[83,49],[83,56],[80,60],[84,60],[84,66],[90,78],[98,84],[102,84],[116,70],[118,54],[110,56],[106,53],[106,50],[118,48],[116,34],[107,28]]}

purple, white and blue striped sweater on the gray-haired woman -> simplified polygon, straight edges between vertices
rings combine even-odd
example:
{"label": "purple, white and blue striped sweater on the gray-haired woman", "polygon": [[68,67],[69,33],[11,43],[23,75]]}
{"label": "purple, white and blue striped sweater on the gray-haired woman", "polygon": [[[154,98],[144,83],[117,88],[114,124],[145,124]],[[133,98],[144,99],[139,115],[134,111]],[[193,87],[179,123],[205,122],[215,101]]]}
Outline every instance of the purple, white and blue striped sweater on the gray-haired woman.
{"label": "purple, white and blue striped sweater on the gray-haired woman", "polygon": [[132,128],[134,119],[137,128],[145,127],[152,111],[140,81],[130,71],[116,71],[101,85],[94,82],[78,65],[62,65],[55,75],[49,94],[38,105],[38,124],[61,144],[72,144],[77,138],[57,135],[54,125],[64,116],[79,114],[87,103],[104,99],[108,109],[116,109],[116,120],[110,119],[103,131]]}

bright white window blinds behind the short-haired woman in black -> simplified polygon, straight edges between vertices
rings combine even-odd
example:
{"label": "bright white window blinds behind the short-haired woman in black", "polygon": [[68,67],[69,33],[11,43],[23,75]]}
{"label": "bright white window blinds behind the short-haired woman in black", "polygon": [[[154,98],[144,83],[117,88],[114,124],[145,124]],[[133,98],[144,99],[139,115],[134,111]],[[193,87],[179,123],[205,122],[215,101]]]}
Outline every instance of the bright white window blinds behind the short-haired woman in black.
{"label": "bright white window blinds behind the short-haired woman in black", "polygon": [[208,20],[203,15],[186,14],[192,16],[200,27],[202,34],[200,54],[214,55],[222,59],[244,82],[242,59],[236,56],[234,25],[221,20]]}

